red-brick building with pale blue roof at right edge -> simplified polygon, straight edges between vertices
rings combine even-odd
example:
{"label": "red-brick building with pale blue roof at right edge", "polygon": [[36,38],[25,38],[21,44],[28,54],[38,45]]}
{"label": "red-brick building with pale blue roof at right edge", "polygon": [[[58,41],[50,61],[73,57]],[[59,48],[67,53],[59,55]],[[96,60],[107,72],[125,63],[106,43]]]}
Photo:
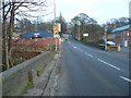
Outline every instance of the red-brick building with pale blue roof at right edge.
{"label": "red-brick building with pale blue roof at right edge", "polygon": [[117,27],[108,35],[109,39],[114,40],[117,45],[123,47],[131,47],[131,28],[130,25]]}

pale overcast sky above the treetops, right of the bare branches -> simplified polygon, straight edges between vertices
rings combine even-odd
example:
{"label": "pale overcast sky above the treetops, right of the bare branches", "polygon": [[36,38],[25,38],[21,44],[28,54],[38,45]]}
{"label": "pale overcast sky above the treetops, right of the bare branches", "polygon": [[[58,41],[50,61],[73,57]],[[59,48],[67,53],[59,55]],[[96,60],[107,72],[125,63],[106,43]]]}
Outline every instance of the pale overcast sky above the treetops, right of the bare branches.
{"label": "pale overcast sky above the treetops, right of the bare branches", "polygon": [[[53,0],[49,0],[51,3]],[[56,15],[60,12],[67,22],[79,13],[85,13],[95,19],[99,24],[106,23],[110,19],[129,17],[129,2],[131,0],[56,0]],[[50,4],[50,11],[53,11]],[[53,19],[53,13],[46,16],[47,20]]]}

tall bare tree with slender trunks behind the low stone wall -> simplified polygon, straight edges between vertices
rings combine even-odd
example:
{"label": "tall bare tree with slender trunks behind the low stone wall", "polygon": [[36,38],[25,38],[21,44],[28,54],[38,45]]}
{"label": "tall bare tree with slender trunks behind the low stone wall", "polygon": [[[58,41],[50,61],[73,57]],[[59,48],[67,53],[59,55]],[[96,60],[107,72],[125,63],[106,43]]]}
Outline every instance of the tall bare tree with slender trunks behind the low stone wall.
{"label": "tall bare tree with slender trunks behind the low stone wall", "polygon": [[[14,28],[15,16],[32,16],[29,12],[45,11],[43,8],[46,5],[45,1],[32,0],[2,0],[2,38],[3,38],[3,52],[2,63],[7,69],[12,66],[11,63],[11,39]],[[9,26],[8,26],[9,23]]]}

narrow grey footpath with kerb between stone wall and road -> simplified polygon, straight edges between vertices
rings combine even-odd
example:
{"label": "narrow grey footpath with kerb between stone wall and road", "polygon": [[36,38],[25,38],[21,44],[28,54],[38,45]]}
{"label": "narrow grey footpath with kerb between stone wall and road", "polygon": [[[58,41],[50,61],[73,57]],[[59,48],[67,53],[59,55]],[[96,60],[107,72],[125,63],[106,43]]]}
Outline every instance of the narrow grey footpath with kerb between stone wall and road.
{"label": "narrow grey footpath with kerb between stone wall and road", "polygon": [[23,97],[27,96],[56,96],[57,84],[60,72],[60,52],[57,53],[53,60],[45,68],[44,72],[36,82],[35,87],[29,88]]}

